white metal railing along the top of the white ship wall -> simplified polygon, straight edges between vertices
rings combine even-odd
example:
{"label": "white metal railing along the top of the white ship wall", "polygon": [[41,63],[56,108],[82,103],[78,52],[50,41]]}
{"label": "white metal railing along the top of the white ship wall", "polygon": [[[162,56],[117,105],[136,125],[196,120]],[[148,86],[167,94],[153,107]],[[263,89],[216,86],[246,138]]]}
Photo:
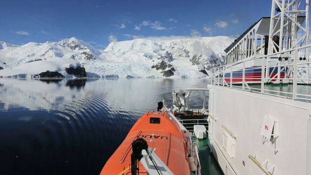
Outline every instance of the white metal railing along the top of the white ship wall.
{"label": "white metal railing along the top of the white ship wall", "polygon": [[[216,86],[223,86],[223,87],[228,87],[228,88],[235,88],[235,89],[240,89],[243,91],[252,91],[252,92],[256,92],[256,93],[261,93],[261,94],[267,94],[267,95],[273,95],[273,96],[277,96],[277,97],[284,97],[284,98],[288,98],[288,99],[292,99],[292,100],[299,100],[299,101],[306,101],[306,102],[311,102],[311,98],[309,99],[309,97],[311,97],[310,92],[307,92],[307,94],[301,95],[300,97],[297,97],[298,93],[297,93],[297,85],[301,84],[306,84],[306,85],[310,85],[311,84],[311,77],[309,76],[309,71],[305,72],[307,75],[300,75],[300,74],[294,74],[294,72],[297,72],[297,68],[305,68],[309,70],[309,65],[311,64],[311,59],[308,58],[308,60],[305,62],[298,62],[298,55],[297,52],[301,49],[305,49],[305,48],[311,48],[311,45],[306,45],[306,46],[300,46],[298,48],[293,48],[293,49],[289,49],[286,51],[281,51],[278,53],[270,53],[267,55],[257,55],[256,57],[253,58],[248,58],[236,63],[230,63],[227,65],[223,65],[220,66],[218,68],[213,68],[212,70],[212,75],[211,75],[211,84],[212,85],[216,85]],[[278,61],[276,57],[276,55],[279,54],[283,54],[283,53],[289,53],[289,52],[293,52],[294,51],[294,60],[295,62],[283,62],[281,61],[283,64],[276,64],[276,65],[267,65],[265,66],[264,64],[264,59],[268,58],[269,56],[275,56],[273,58],[275,58],[276,60],[273,61]],[[293,59],[292,58],[292,59]],[[245,68],[245,63],[249,62],[249,61],[254,61],[257,59],[262,59],[262,64],[258,65],[254,68],[252,67],[247,67],[247,69]],[[270,61],[270,60],[267,60]],[[279,62],[279,61],[278,61]],[[243,63],[243,64],[240,64]],[[238,64],[240,64],[241,66],[238,66]],[[233,68],[233,66],[235,66]],[[284,68],[282,67],[286,67],[286,69],[284,70]],[[311,67],[311,65],[310,65]],[[260,69],[261,71],[258,70],[258,72],[262,72],[261,76],[251,76],[251,77],[246,77],[245,76],[245,71],[254,71],[257,69]],[[282,68],[282,69],[281,69]],[[278,74],[272,74],[269,71],[266,72],[266,69],[274,69],[272,70],[272,72],[274,72],[276,69],[278,69]],[[281,70],[280,70],[281,69]],[[257,72],[257,71],[256,71]],[[266,73],[263,73],[266,72]],[[283,73],[285,75],[280,76],[279,73]],[[235,73],[242,73],[242,77],[238,76],[235,77],[236,75],[234,75]],[[222,75],[222,78],[220,79],[219,76]],[[230,75],[230,76],[229,76]],[[233,76],[234,75],[234,76]],[[261,80],[261,81],[259,81]],[[276,81],[276,83],[285,83],[287,86],[287,83],[289,84],[293,84],[293,88],[292,89],[280,89],[280,90],[268,90],[267,88],[264,87],[264,85],[266,83],[274,83],[274,81]],[[253,83],[259,83],[261,84],[260,88],[251,88],[249,86],[250,84]],[[234,86],[235,84],[239,84],[241,86]],[[255,89],[255,91],[253,91]],[[259,92],[257,92],[257,90],[259,90]],[[268,92],[268,93],[267,93]],[[269,93],[272,92],[272,93]],[[276,94],[276,93],[279,94]]]}

